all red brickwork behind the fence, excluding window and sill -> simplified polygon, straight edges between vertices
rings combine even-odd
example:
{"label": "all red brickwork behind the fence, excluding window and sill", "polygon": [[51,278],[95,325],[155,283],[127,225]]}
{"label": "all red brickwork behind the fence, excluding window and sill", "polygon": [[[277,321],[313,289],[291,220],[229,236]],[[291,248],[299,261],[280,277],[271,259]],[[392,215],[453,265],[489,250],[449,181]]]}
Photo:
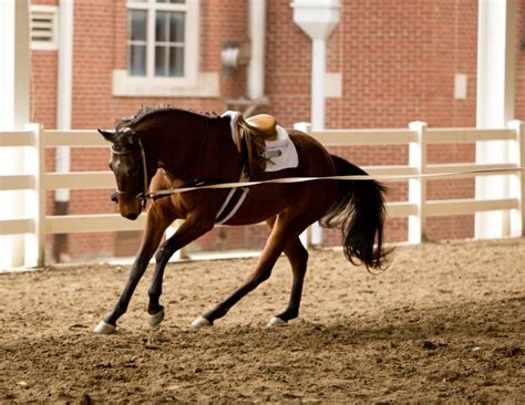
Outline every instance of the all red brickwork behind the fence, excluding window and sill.
{"label": "all red brickwork behind the fence, excluding window and sill", "polygon": [[[38,0],[33,3],[56,3]],[[525,0],[518,1],[518,38],[523,38]],[[172,104],[198,111],[225,110],[225,101],[245,95],[246,73],[222,71],[224,41],[247,41],[247,2],[200,1],[200,71],[219,72],[220,96],[114,97],[112,71],[126,66],[125,0],[75,1],[73,128],[113,127],[115,121],[142,105]],[[327,127],[406,127],[424,121],[430,127],[474,126],[476,92],[477,0],[343,0],[341,22],[328,42],[328,72],[342,77],[342,97],[327,100]],[[525,116],[525,56],[516,53],[516,116]],[[47,127],[55,125],[56,52],[34,52],[32,116]],[[267,111],[282,125],[309,121],[311,41],[292,22],[289,1],[267,1],[266,92]],[[467,98],[454,100],[454,74],[469,77]],[[332,148],[358,165],[406,164],[406,146]],[[109,152],[72,152],[72,169],[105,169]],[[431,163],[473,162],[473,145],[429,147]],[[48,154],[48,167],[53,154]],[[389,200],[405,200],[406,184],[389,184]],[[471,198],[473,180],[429,183],[429,197]],[[110,190],[72,191],[71,212],[111,212]],[[51,197],[50,197],[51,198]],[[50,199],[49,198],[49,199]],[[473,216],[429,218],[430,239],[473,236]],[[267,230],[216,230],[199,247],[246,248],[262,243]],[[71,236],[76,257],[111,256],[121,251],[116,236]],[[119,237],[123,239],[122,237]],[[116,239],[119,239],[116,238]],[[388,240],[406,238],[406,220],[389,220]],[[119,240],[120,240],[119,239]],[[136,245],[124,238],[131,253]],[[327,232],[328,243],[340,236]],[[115,245],[116,243],[116,245]],[[115,246],[117,248],[115,248]],[[125,250],[125,249],[124,249]]]}

